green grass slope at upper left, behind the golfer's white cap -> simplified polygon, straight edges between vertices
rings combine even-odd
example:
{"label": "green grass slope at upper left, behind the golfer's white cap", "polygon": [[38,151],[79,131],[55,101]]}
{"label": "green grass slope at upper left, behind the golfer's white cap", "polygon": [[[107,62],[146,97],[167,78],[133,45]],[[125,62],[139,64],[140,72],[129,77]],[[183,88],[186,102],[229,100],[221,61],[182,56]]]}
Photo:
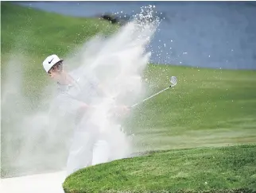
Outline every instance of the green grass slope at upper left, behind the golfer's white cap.
{"label": "green grass slope at upper left, behind the golfer's white cap", "polygon": [[[53,53],[65,58],[95,34],[111,34],[118,25],[97,18],[73,18],[1,3],[1,70],[17,58],[25,74],[24,94],[33,101],[47,85],[42,61]],[[2,73],[6,79],[6,73]],[[41,85],[41,87],[38,87]],[[36,95],[35,95],[36,94]]]}

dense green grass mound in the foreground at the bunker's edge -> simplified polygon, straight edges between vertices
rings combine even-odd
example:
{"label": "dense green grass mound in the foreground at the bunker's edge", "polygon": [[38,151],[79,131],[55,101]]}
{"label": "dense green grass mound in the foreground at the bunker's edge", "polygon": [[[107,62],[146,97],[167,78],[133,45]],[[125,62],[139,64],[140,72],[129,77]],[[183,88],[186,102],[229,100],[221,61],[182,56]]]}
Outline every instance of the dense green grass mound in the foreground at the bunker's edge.
{"label": "dense green grass mound in the foreground at the bunker's edge", "polygon": [[81,169],[63,186],[66,193],[255,192],[255,152],[256,145],[151,152]]}

